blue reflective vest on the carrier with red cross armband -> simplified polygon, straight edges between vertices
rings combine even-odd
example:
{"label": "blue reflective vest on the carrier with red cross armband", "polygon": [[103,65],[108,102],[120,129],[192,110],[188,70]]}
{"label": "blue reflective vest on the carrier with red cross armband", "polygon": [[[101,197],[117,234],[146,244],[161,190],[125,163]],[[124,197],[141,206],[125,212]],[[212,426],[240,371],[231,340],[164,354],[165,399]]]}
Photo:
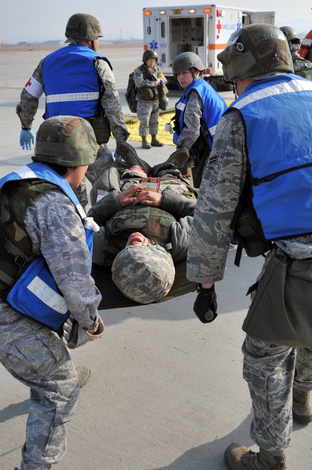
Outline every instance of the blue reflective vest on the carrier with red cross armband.
{"label": "blue reflective vest on the carrier with red cross armband", "polygon": [[53,116],[96,116],[99,99],[99,74],[94,58],[109,61],[101,54],[78,44],[69,44],[47,55],[42,66],[46,95],[45,119]]}

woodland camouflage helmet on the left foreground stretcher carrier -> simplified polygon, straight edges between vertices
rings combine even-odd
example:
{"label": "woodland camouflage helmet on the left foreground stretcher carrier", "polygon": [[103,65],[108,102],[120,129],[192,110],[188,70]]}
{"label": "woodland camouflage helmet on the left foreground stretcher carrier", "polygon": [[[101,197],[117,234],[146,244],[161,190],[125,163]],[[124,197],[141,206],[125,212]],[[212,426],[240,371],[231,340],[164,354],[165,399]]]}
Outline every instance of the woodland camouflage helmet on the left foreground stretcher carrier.
{"label": "woodland camouflage helmet on the left foreground stretcher carrier", "polygon": [[94,130],[86,119],[55,116],[39,126],[32,159],[61,166],[91,165],[98,148]]}

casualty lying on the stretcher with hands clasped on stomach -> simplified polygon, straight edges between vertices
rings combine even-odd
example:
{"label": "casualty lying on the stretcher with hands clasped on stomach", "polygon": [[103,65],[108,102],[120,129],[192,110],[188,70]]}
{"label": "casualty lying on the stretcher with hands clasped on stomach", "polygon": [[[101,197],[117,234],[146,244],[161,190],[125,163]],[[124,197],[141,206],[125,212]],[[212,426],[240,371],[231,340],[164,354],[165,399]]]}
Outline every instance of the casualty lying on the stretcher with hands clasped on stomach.
{"label": "casualty lying on the stretcher with hands clasped on stomach", "polygon": [[197,191],[176,169],[187,161],[187,151],[151,168],[127,142],[117,150],[123,162],[116,160],[90,194],[88,216],[101,226],[93,260],[111,267],[126,297],[148,304],[169,292],[173,263],[186,259]]}

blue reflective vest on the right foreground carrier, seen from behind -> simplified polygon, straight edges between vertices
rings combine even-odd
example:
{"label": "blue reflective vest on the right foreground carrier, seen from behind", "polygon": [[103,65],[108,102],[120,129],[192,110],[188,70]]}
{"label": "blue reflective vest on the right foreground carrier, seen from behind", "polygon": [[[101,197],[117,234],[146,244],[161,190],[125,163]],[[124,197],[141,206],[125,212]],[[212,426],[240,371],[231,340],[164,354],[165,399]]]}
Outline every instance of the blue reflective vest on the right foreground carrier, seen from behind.
{"label": "blue reflective vest on the right foreground carrier, seen from behind", "polygon": [[237,109],[246,129],[252,203],[261,233],[246,241],[312,233],[312,82],[282,74],[249,85]]}

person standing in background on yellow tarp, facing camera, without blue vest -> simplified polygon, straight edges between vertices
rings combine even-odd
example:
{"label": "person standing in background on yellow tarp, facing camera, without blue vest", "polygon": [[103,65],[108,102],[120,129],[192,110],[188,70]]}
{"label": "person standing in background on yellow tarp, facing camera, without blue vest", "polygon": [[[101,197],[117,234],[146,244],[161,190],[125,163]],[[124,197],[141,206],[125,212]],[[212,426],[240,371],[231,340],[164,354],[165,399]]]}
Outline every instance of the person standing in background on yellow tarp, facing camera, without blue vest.
{"label": "person standing in background on yellow tarp, facing camera, without blue vest", "polygon": [[[158,61],[156,51],[148,49],[144,51],[142,65],[133,73],[133,80],[137,86],[136,100],[138,102],[137,115],[140,121],[139,134],[142,138],[143,149],[162,147],[163,144],[157,139],[159,118],[159,86],[166,84],[167,80],[155,67]],[[152,141],[147,141],[151,134]]]}

